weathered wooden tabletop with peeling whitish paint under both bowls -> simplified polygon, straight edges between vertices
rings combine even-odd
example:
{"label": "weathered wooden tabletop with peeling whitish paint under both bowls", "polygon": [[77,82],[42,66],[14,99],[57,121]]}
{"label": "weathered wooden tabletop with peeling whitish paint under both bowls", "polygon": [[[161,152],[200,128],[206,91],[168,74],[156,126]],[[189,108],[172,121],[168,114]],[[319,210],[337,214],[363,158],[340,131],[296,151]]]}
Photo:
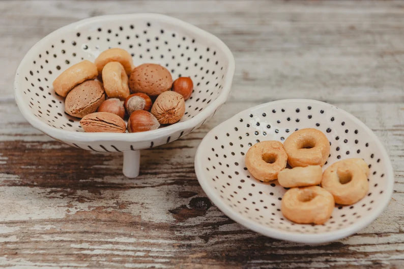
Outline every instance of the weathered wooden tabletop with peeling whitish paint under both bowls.
{"label": "weathered wooden tabletop with peeling whitish paint under both bowls", "polygon": [[[19,113],[13,77],[47,33],[102,14],[158,12],[222,39],[236,58],[233,91],[190,135],[122,155],[75,149]],[[249,1],[0,2],[0,266],[404,267],[404,3]],[[235,113],[281,98],[324,100],[367,124],[395,171],[384,213],[357,234],[307,246],[227,218],[194,173],[196,147]],[[85,160],[85,161],[83,161]]]}

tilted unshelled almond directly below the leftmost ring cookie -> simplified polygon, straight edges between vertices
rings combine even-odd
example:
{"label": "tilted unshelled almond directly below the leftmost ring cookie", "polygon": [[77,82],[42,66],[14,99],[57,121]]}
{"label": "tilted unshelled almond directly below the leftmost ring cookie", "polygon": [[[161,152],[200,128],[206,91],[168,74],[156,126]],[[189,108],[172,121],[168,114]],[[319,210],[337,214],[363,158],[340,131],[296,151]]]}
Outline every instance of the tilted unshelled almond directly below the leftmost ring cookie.
{"label": "tilted unshelled almond directly below the leftmost ring cookie", "polygon": [[104,89],[99,81],[84,81],[66,96],[65,112],[73,117],[82,118],[95,112],[104,100]]}

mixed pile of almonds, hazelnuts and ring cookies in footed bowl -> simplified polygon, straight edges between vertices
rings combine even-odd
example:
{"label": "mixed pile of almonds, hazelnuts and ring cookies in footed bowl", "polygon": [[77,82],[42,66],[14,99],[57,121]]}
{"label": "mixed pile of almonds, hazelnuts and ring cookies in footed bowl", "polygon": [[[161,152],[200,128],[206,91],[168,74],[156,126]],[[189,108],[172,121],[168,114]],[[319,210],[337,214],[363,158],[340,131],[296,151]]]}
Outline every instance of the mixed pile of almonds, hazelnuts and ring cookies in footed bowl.
{"label": "mixed pile of almonds, hazelnuts and ring cookies in footed bowl", "polygon": [[134,68],[126,50],[112,48],[94,63],[84,60],[70,66],[53,81],[53,88],[66,97],[65,112],[81,118],[84,131],[141,132],[178,122],[193,83],[189,77],[173,83],[159,64]]}

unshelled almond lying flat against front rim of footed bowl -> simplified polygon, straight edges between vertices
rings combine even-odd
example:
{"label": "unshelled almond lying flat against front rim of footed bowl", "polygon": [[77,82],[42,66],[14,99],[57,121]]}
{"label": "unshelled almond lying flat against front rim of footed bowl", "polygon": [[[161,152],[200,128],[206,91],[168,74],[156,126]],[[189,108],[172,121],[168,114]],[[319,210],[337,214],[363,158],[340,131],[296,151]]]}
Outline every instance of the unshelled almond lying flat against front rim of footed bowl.
{"label": "unshelled almond lying flat against front rim of footed bowl", "polygon": [[80,125],[86,132],[125,132],[125,121],[109,112],[95,112],[85,115]]}

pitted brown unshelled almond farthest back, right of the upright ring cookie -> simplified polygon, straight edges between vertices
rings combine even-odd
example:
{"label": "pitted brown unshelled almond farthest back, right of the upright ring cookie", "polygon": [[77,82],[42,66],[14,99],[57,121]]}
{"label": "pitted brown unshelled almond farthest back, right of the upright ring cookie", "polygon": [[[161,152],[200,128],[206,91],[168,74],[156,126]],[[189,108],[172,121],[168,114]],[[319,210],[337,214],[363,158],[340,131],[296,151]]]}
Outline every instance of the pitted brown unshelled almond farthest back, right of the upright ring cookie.
{"label": "pitted brown unshelled almond farthest back, right of the upright ring cookie", "polygon": [[170,72],[159,64],[144,63],[135,68],[129,77],[131,92],[156,96],[169,90],[172,85]]}

